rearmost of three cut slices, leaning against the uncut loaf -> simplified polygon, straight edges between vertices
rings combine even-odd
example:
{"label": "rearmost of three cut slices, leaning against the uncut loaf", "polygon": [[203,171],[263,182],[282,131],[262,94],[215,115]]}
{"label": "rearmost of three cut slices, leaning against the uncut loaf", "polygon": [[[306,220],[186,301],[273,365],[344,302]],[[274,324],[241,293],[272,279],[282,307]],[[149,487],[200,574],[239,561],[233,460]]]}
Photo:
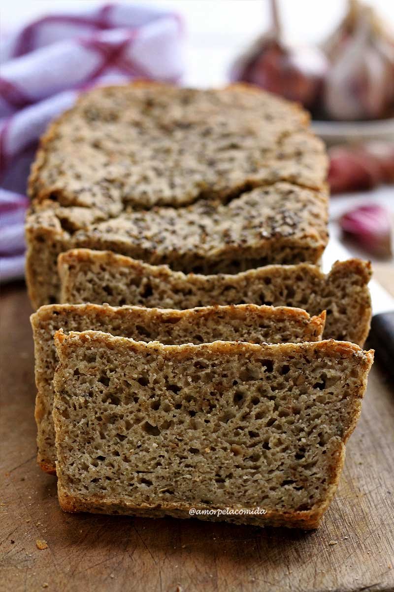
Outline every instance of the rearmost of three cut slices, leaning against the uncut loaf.
{"label": "rearmost of three cut slices, leaning against the uncut loaf", "polygon": [[324,338],[363,346],[369,332],[369,262],[334,263],[328,275],[307,263],[268,265],[235,275],[184,275],[111,252],[76,249],[60,255],[61,301],[191,308],[209,304],[272,304],[327,310]]}

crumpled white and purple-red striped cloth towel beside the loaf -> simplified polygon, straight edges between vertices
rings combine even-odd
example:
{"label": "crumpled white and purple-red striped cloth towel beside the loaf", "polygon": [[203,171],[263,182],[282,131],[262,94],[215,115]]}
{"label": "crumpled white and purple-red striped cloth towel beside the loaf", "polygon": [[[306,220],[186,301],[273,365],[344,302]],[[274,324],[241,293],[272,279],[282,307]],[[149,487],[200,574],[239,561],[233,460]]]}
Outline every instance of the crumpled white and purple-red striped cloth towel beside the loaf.
{"label": "crumpled white and purple-red striped cloth towel beside the loaf", "polygon": [[49,15],[1,45],[0,278],[23,276],[27,176],[48,123],[91,86],[180,80],[182,27],[173,12],[109,4]]}

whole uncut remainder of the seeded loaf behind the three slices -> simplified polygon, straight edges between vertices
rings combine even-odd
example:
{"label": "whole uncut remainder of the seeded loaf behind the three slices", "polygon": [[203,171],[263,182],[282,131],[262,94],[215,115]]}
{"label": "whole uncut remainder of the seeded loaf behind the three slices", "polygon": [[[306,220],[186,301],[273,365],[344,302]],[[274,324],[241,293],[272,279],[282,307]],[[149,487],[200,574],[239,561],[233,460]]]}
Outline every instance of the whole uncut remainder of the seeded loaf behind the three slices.
{"label": "whole uncut remainder of the seeded loaf behind the three slices", "polygon": [[52,124],[32,167],[32,304],[58,301],[57,255],[73,247],[184,272],[316,263],[326,171],[307,114],[265,92],[94,89]]}

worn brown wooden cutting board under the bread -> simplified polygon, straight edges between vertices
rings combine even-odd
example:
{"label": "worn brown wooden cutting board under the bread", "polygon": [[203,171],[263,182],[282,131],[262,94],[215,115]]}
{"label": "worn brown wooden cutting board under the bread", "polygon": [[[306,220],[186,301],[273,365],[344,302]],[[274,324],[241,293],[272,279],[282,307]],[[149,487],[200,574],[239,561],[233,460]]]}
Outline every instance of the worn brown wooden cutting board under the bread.
{"label": "worn brown wooden cutting board under the bread", "polygon": [[318,530],[66,514],[35,464],[30,313],[24,285],[3,290],[0,589],[394,590],[394,391],[376,364]]}

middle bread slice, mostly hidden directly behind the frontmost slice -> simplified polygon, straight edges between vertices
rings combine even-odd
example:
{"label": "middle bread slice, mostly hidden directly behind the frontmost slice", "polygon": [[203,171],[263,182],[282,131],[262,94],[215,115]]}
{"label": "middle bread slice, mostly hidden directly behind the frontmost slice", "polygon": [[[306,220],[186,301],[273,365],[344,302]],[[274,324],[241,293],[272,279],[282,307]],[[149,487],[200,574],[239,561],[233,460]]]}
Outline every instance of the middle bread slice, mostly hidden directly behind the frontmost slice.
{"label": "middle bread slice, mostly hidden directly behind the frontmost slice", "polygon": [[248,340],[254,343],[317,341],[324,329],[325,313],[310,317],[297,308],[218,306],[192,310],[121,307],[95,304],[50,304],[32,314],[35,350],[35,420],[37,462],[46,472],[56,472],[52,419],[53,375],[58,362],[54,333],[101,330],[138,341],[204,343],[216,339]]}

